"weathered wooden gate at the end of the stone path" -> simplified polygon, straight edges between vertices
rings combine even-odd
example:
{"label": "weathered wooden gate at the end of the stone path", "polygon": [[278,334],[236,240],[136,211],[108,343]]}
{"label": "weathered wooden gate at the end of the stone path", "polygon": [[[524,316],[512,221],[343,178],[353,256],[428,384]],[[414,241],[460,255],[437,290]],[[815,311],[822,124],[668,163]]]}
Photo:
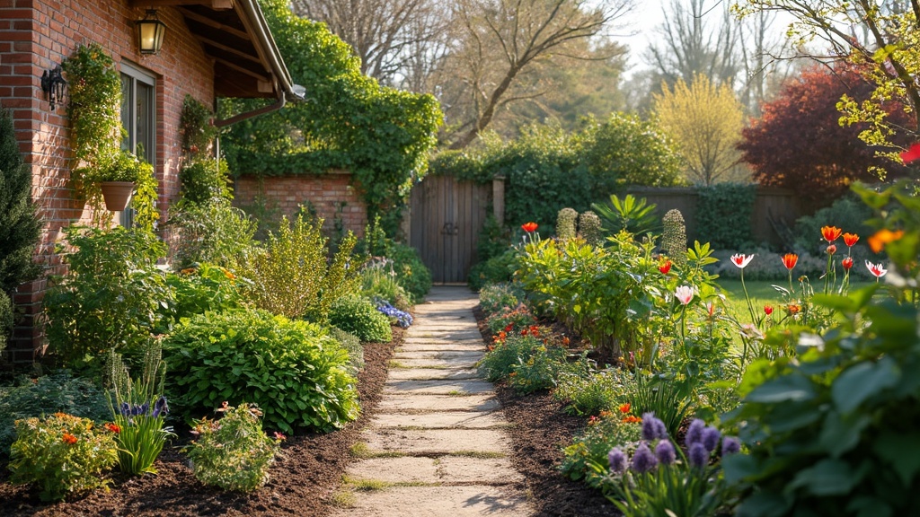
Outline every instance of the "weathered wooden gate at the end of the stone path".
{"label": "weathered wooden gate at the end of the stone path", "polygon": [[466,283],[491,191],[449,176],[429,176],[412,189],[409,244],[435,283]]}

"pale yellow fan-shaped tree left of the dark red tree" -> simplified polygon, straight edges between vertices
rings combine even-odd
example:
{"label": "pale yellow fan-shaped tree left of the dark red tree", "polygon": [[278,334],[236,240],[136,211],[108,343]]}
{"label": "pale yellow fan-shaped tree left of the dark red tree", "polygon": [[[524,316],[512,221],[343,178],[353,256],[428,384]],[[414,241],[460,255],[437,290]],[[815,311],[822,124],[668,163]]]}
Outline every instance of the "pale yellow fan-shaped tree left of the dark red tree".
{"label": "pale yellow fan-shaped tree left of the dark red tree", "polygon": [[673,89],[655,95],[661,128],[677,143],[687,180],[697,185],[740,181],[741,154],[735,147],[744,127],[742,105],[728,84],[713,84],[697,74],[689,86],[683,78]]}

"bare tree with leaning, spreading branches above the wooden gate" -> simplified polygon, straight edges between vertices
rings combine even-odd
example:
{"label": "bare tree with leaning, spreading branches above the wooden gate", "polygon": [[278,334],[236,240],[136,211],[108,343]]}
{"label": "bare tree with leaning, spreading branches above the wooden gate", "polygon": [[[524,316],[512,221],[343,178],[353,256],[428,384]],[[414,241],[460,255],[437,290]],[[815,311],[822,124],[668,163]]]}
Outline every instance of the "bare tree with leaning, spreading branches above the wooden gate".
{"label": "bare tree with leaning, spreading branches above the wooden gate", "polygon": [[[463,148],[489,127],[497,110],[540,94],[527,75],[558,59],[585,59],[577,45],[602,35],[634,0],[456,0],[456,46],[439,86],[453,87],[445,111],[451,147]],[[582,47],[583,48],[583,47]],[[448,92],[445,92],[448,93]]]}

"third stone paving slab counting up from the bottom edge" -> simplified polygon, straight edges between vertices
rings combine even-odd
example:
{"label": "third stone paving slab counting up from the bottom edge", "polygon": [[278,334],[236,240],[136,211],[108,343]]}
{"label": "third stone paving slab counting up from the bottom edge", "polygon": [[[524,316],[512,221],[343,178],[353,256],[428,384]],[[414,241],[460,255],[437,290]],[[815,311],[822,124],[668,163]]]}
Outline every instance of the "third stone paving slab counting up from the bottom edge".
{"label": "third stone paving slab counting up from the bottom edge", "polygon": [[374,429],[362,433],[362,442],[374,452],[411,455],[487,453],[507,454],[511,443],[494,429]]}

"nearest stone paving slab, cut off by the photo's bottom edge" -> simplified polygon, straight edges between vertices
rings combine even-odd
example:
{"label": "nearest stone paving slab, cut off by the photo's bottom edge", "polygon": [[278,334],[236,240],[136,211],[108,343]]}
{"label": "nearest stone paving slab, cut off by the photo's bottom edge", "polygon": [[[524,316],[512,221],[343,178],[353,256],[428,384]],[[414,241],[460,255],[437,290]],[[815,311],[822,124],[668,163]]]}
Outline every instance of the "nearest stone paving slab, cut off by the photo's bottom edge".
{"label": "nearest stone paving slab, cut off by the photo's bottom edge", "polygon": [[333,517],[526,517],[523,497],[504,487],[394,487],[361,492],[355,506]]}

